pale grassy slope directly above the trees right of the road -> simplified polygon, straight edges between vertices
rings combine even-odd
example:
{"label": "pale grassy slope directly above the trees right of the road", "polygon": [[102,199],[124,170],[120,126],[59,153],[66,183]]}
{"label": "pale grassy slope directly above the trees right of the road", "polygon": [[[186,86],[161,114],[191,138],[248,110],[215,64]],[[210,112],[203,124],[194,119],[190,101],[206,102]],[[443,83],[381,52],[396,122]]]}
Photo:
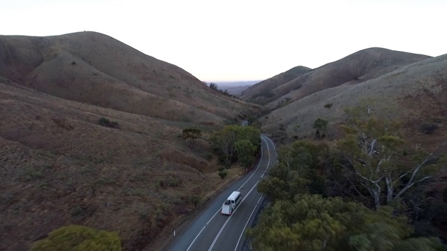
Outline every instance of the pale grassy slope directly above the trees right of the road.
{"label": "pale grassy slope directly above the trees right of the road", "polygon": [[[314,137],[313,123],[329,121],[328,136],[335,136],[348,107],[367,106],[383,119],[399,119],[412,133],[423,123],[439,126],[446,137],[447,54],[425,59],[358,84],[324,89],[276,109],[260,121],[263,131],[278,141]],[[366,111],[365,111],[366,112]],[[443,136],[444,133],[444,136]]]}

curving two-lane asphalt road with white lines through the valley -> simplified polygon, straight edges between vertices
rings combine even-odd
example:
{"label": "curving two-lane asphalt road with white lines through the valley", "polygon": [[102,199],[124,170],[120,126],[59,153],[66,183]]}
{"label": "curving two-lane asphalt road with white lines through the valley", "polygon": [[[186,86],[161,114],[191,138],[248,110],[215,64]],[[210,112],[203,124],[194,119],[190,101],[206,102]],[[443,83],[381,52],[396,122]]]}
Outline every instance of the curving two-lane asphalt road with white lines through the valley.
{"label": "curving two-lane asphalt road with white lines through the valley", "polygon": [[[245,229],[251,225],[263,199],[261,193],[256,190],[256,185],[277,160],[272,140],[261,135],[261,146],[261,159],[256,168],[214,199],[185,231],[175,236],[175,241],[168,250],[236,251],[242,249]],[[222,203],[233,191],[241,192],[242,202],[232,215],[221,215]]]}

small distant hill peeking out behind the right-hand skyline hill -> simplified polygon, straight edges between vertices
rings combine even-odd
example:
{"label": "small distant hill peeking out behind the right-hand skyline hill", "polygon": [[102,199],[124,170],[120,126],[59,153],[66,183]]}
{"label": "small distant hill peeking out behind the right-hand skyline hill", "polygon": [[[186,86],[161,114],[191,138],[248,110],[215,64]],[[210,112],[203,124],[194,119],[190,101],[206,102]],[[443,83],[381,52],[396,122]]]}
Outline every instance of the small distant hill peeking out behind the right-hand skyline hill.
{"label": "small distant hill peeking out behind the right-hand skyline hill", "polygon": [[290,82],[291,80],[308,73],[311,70],[311,68],[307,68],[305,66],[296,66],[284,73],[270,77],[270,79],[266,79],[263,82],[250,86],[248,89],[242,91],[240,98],[249,102],[265,105],[274,97],[274,94],[272,93],[273,89],[277,88],[277,86],[281,86],[282,84],[286,84],[287,82]]}

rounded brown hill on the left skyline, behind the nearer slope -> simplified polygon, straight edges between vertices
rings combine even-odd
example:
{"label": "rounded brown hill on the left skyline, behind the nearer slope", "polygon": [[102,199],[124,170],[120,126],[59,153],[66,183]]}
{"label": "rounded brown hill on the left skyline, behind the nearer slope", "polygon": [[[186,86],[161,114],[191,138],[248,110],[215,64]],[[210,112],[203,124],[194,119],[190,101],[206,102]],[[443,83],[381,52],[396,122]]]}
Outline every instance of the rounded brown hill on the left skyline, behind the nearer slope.
{"label": "rounded brown hill on the left skyline, behind the nearer slope", "polygon": [[6,84],[160,119],[219,124],[258,109],[95,32],[0,36],[0,76]]}

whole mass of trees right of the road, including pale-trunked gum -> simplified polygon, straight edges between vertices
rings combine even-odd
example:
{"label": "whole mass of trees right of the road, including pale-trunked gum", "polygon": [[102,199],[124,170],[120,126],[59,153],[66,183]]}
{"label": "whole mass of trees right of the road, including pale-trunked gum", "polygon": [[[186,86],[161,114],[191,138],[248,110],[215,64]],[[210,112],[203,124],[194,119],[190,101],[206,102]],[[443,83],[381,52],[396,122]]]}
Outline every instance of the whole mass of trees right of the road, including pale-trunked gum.
{"label": "whole mass of trees right of the road, including pale-trunked gum", "polygon": [[420,191],[446,160],[410,149],[398,123],[359,111],[349,111],[337,142],[279,149],[277,166],[258,183],[270,206],[247,231],[259,250],[445,250],[432,225],[417,226],[447,224],[439,210],[447,190],[437,198]]}

